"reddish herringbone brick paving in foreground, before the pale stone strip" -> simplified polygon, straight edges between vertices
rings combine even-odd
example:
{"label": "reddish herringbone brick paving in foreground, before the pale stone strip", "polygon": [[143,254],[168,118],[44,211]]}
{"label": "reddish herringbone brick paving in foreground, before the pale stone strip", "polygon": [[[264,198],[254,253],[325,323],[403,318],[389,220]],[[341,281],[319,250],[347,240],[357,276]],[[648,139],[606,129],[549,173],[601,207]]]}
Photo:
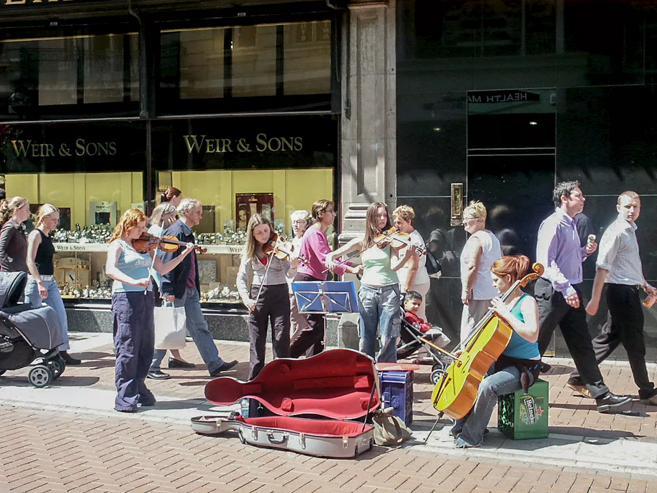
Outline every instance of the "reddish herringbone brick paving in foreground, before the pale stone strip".
{"label": "reddish herringbone brick paving in foreground, before the pale stone strip", "polygon": [[[63,378],[63,375],[62,375]],[[375,447],[321,459],[166,425],[0,404],[1,493],[656,493],[636,475]]]}

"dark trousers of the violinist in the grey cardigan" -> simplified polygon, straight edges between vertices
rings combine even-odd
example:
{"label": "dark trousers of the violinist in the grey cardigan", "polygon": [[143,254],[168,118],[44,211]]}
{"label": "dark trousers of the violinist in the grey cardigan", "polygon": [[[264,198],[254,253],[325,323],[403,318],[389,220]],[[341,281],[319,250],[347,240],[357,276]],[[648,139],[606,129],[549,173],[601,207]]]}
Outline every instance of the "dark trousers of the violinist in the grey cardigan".
{"label": "dark trousers of the violinist in the grey cardigan", "polygon": [[[251,298],[256,299],[260,285],[251,287]],[[271,322],[271,343],[274,358],[290,356],[290,297],[287,284],[263,286],[256,309],[248,317],[249,374],[253,380],[265,366],[267,326]]]}

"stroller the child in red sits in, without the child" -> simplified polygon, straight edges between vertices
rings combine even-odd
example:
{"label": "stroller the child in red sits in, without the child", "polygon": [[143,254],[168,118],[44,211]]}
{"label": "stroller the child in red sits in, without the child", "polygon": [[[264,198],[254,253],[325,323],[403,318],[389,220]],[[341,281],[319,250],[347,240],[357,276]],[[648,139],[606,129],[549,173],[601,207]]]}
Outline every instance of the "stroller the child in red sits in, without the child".
{"label": "stroller the child in red sits in, without the child", "polygon": [[451,363],[449,356],[438,351],[436,348],[433,348],[430,344],[423,342],[420,337],[424,340],[428,340],[435,346],[443,348],[449,344],[449,337],[442,333],[438,327],[422,333],[419,328],[415,327],[410,323],[404,314],[403,306],[401,308],[401,340],[397,346],[397,360],[406,360],[407,358],[413,356],[421,348],[426,349],[426,352],[429,354],[430,364],[431,364],[431,375],[430,380],[434,385],[440,379],[440,375],[445,371],[445,367]]}

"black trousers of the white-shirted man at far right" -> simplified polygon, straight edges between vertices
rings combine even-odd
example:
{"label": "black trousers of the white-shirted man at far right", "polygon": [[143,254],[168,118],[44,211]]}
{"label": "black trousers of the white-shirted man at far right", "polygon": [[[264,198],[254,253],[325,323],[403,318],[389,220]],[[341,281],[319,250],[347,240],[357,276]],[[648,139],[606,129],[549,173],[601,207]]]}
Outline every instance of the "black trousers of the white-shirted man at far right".
{"label": "black trousers of the white-shirted man at far right", "polygon": [[[604,361],[618,344],[623,344],[634,375],[634,383],[639,387],[639,398],[648,399],[657,394],[657,389],[650,381],[646,369],[643,310],[638,289],[635,286],[607,284],[606,300],[609,308],[607,321],[602,326],[600,335],[593,339],[595,359],[598,363]],[[570,379],[579,381],[577,370],[570,374]]]}

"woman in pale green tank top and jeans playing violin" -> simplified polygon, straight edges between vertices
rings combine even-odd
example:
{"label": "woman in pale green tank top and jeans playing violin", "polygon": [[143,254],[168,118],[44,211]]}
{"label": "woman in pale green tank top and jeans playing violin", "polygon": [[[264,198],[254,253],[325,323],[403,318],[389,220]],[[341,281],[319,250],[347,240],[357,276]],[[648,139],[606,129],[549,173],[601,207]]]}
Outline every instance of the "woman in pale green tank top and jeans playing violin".
{"label": "woman in pale green tank top and jeans playing violin", "polygon": [[363,277],[358,291],[358,335],[361,352],[374,358],[376,333],[380,333],[378,362],[397,361],[397,338],[401,325],[401,300],[399,293],[399,270],[413,256],[415,250],[406,248],[403,257],[390,246],[389,241],[376,243],[377,235],[390,228],[388,206],[375,202],[367,208],[365,216],[365,238],[355,238],[344,247],[327,254],[325,264],[334,271],[336,262],[344,254],[360,250],[363,262]]}

